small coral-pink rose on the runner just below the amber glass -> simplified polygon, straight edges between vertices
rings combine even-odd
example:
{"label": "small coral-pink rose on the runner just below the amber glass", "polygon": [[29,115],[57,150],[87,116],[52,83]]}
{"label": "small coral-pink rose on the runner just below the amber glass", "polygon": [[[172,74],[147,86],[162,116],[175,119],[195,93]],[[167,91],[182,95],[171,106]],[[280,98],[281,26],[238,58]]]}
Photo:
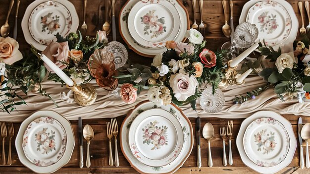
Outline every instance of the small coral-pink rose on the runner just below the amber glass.
{"label": "small coral-pink rose on the runner just below the amber glass", "polygon": [[120,88],[120,97],[125,103],[132,104],[137,99],[137,88],[133,87],[132,84],[125,83]]}

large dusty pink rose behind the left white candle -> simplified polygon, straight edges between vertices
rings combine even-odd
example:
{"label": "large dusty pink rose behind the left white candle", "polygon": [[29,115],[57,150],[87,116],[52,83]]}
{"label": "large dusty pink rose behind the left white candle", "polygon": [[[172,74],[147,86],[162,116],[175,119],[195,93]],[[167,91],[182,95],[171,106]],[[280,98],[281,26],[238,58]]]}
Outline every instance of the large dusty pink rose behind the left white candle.
{"label": "large dusty pink rose behind the left white candle", "polygon": [[[66,64],[62,64],[62,62],[60,62],[60,61],[64,61],[64,62],[69,63],[69,58],[68,58],[69,46],[68,46],[68,42],[58,43],[58,42],[54,42],[53,41],[42,52],[42,54],[44,54],[45,56],[50,58],[52,60],[52,62],[54,62],[60,69],[64,69],[64,68],[67,67],[67,65]],[[46,63],[44,63],[44,66],[47,68],[48,71],[50,71],[51,73],[54,73],[52,71],[52,69]]]}

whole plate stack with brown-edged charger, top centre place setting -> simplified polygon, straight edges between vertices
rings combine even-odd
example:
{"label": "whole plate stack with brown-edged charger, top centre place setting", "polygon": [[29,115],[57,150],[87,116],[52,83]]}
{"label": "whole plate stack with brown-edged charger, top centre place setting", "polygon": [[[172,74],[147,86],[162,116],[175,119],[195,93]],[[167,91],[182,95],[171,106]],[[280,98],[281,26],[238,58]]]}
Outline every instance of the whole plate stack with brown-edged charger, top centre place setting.
{"label": "whole plate stack with brown-edged charger, top centre place setting", "polygon": [[146,57],[164,52],[166,41],[183,41],[189,29],[188,12],[179,0],[128,0],[119,19],[124,41]]}

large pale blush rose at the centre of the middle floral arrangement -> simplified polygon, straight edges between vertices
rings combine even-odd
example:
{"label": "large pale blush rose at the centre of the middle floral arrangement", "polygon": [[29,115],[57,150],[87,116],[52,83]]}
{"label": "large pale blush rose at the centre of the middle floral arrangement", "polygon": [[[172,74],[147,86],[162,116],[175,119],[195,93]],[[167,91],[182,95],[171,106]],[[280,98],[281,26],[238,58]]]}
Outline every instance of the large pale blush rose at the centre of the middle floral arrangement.
{"label": "large pale blush rose at the centre of the middle floral arrangement", "polygon": [[188,97],[195,94],[198,81],[193,75],[189,77],[180,73],[171,75],[169,83],[173,90],[174,97],[178,101],[186,101]]}

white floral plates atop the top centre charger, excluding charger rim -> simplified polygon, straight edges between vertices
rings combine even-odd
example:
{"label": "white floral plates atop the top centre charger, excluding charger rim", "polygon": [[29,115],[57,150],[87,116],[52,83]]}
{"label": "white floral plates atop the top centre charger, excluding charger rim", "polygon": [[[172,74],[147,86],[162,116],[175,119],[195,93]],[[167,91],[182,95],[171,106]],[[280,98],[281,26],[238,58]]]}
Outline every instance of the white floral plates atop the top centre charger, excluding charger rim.
{"label": "white floral plates atop the top centre charger, excluding charger rim", "polygon": [[181,21],[175,5],[167,0],[137,2],[129,12],[128,29],[141,46],[160,48],[179,34]]}

